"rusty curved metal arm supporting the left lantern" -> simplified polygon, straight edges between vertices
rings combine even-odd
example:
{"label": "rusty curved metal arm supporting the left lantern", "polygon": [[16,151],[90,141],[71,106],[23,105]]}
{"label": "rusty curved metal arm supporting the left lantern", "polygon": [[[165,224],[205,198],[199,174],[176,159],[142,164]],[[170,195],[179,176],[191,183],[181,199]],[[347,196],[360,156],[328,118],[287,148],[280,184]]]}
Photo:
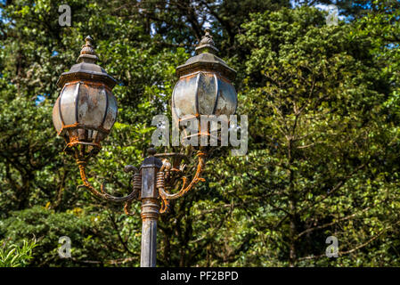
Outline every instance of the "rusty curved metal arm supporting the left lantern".
{"label": "rusty curved metal arm supporting the left lantern", "polygon": [[[80,173],[80,177],[82,178],[82,182],[84,183],[83,185],[79,185],[78,187],[85,187],[87,188],[92,194],[94,194],[94,196],[101,198],[101,199],[106,199],[110,202],[116,202],[116,203],[123,203],[123,202],[127,202],[130,201],[132,199],[135,199],[135,197],[137,196],[138,190],[134,187],[134,190],[127,196],[125,197],[115,197],[110,195],[109,193],[107,193],[105,191],[105,183],[102,183],[102,186],[100,187],[100,191],[97,191],[94,189],[94,187],[89,183],[89,181],[86,178],[86,162],[84,161],[78,161],[78,167],[79,167],[79,173]],[[135,173],[138,173],[139,170],[136,167],[133,166],[127,166],[124,168],[125,172],[131,172],[131,171],[135,171]],[[130,206],[130,204],[129,204]],[[127,206],[126,206],[127,208]]]}

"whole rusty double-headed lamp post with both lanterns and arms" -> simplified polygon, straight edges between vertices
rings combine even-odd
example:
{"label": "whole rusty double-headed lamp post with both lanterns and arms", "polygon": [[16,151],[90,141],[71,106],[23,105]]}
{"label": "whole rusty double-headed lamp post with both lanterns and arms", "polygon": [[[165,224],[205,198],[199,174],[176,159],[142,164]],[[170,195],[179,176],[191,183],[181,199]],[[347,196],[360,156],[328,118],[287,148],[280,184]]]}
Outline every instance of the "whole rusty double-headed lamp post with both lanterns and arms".
{"label": "whole rusty double-headed lamp post with both lanterns and arms", "polygon": [[[78,64],[68,72],[61,74],[57,85],[62,87],[61,94],[53,107],[53,124],[57,134],[66,141],[64,151],[77,161],[83,184],[95,197],[111,202],[125,203],[124,211],[130,212],[134,199],[142,201],[141,217],[142,248],[141,266],[156,265],[157,221],[159,214],[166,213],[169,200],[177,199],[203,181],[200,177],[206,163],[207,146],[199,146],[197,150],[197,167],[192,181],[184,176],[184,154],[156,154],[154,148],[148,150],[148,157],[143,159],[141,167],[127,166],[126,172],[133,173],[133,187],[129,195],[115,197],[105,191],[102,184],[97,191],[86,178],[86,165],[90,158],[101,150],[101,142],[110,133],[114,125],[118,105],[112,94],[116,80],[96,64],[98,57],[94,53],[92,38],[86,37],[78,57]],[[216,56],[218,50],[206,29],[197,55],[176,68],[179,77],[172,95],[172,114],[177,122],[188,116],[199,120],[201,115],[233,115],[237,106],[237,94],[231,83],[236,72]],[[199,123],[200,126],[200,123]],[[210,136],[207,129],[199,129],[197,137]],[[159,159],[164,158],[164,159]],[[179,186],[180,190],[170,192]]]}

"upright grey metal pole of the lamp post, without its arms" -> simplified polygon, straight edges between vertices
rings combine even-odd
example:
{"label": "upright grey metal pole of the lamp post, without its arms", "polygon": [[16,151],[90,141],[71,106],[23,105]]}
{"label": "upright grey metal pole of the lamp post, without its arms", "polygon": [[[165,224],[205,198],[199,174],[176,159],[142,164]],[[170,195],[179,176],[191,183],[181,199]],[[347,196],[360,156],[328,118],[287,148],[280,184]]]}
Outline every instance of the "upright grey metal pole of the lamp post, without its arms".
{"label": "upright grey metal pole of the lamp post, without its arms", "polygon": [[162,161],[156,157],[155,149],[148,150],[149,156],[143,160],[142,175],[142,249],[141,267],[155,267],[157,255],[157,221],[159,219],[159,191],[156,187],[157,172]]}

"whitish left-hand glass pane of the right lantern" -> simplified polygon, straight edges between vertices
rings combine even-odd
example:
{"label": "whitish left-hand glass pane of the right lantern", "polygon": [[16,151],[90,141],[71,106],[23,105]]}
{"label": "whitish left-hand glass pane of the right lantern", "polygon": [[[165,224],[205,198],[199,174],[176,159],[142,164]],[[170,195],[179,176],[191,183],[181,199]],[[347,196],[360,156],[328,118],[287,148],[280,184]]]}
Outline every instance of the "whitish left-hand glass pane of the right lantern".
{"label": "whitish left-hand glass pane of the right lantern", "polygon": [[172,94],[172,111],[178,118],[196,115],[196,81],[198,74],[180,78]]}

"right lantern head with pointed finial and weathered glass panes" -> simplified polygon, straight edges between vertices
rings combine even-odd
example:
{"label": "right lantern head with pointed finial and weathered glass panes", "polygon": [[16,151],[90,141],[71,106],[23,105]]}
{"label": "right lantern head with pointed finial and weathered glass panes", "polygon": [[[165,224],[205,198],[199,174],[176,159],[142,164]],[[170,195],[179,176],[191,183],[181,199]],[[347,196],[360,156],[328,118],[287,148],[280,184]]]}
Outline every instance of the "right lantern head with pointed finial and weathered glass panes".
{"label": "right lantern head with pointed finial and weathered glass panes", "polygon": [[[206,28],[196,55],[176,68],[179,80],[172,94],[172,116],[176,123],[201,115],[225,115],[229,119],[235,113],[238,100],[232,81],[236,71],[217,57],[217,52]],[[209,129],[198,129],[196,135],[210,136]]]}

